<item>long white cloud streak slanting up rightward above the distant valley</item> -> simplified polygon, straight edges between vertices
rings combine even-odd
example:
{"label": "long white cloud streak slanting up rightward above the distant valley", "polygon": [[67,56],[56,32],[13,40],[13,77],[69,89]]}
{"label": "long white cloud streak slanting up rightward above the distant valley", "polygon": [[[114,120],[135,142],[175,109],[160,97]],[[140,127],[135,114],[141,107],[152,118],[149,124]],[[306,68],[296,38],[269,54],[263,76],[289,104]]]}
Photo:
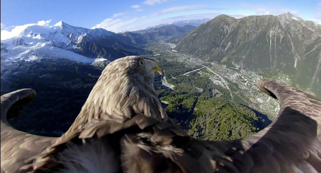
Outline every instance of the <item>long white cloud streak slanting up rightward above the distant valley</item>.
{"label": "long white cloud streak slanting up rightward above the distant valley", "polygon": [[135,21],[139,21],[139,20],[143,20],[146,18],[150,18],[150,17],[162,15],[162,14],[167,14],[167,13],[171,13],[171,12],[177,12],[177,11],[182,11],[182,10],[192,9],[192,8],[199,8],[199,7],[203,7],[203,5],[175,6],[175,7],[163,9],[161,11],[154,12],[154,13],[151,13],[148,15],[134,17],[134,18],[133,17],[123,17],[123,18],[118,18],[118,19],[107,18],[104,21],[102,21],[99,24],[92,27],[92,29],[103,28],[103,29],[106,29],[106,30],[112,31],[112,32],[120,32],[120,31],[123,31],[123,29],[125,29],[126,27],[128,27],[128,25],[130,25],[131,23],[133,23]]}

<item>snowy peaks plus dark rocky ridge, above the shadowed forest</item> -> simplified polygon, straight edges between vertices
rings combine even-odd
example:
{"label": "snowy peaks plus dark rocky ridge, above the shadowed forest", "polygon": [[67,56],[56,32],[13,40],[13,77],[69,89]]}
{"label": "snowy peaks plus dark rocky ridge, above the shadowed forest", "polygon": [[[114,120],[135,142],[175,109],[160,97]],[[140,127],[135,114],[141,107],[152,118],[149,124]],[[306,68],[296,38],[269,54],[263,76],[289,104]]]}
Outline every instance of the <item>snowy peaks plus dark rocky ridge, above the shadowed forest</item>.
{"label": "snowy peaks plus dark rocky ridge, above the shadowed forest", "polygon": [[143,50],[121,34],[74,27],[62,21],[52,26],[45,22],[26,24],[10,32],[1,32],[1,63],[34,62],[44,58],[93,63],[140,52]]}

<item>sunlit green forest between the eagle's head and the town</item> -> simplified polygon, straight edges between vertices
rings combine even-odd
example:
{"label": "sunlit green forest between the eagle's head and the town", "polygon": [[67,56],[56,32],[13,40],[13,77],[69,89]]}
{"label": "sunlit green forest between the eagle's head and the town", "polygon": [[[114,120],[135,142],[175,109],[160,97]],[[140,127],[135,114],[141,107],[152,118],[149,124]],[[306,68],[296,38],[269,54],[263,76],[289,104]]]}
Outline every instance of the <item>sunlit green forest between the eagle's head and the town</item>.
{"label": "sunlit green forest between the eagle's head and the town", "polygon": [[197,72],[178,75],[178,70],[181,71],[179,74],[185,73],[186,67],[183,64],[159,64],[165,69],[164,75],[175,88],[171,90],[162,86],[159,77],[155,81],[156,91],[169,117],[189,130],[191,136],[212,140],[237,139],[254,134],[271,123],[267,116],[231,100],[227,92],[215,96],[213,88],[221,88],[209,78]]}

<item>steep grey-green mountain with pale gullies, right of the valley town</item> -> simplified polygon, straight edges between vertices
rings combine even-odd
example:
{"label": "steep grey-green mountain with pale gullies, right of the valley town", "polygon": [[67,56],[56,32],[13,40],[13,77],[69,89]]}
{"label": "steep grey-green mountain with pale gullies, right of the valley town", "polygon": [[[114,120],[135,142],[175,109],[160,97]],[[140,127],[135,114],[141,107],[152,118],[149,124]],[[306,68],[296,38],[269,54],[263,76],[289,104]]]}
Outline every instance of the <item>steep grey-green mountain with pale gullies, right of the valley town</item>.
{"label": "steep grey-green mountain with pale gullies, right of the valley town", "polygon": [[231,67],[288,74],[293,85],[321,95],[321,25],[291,13],[219,15],[179,40],[177,50]]}

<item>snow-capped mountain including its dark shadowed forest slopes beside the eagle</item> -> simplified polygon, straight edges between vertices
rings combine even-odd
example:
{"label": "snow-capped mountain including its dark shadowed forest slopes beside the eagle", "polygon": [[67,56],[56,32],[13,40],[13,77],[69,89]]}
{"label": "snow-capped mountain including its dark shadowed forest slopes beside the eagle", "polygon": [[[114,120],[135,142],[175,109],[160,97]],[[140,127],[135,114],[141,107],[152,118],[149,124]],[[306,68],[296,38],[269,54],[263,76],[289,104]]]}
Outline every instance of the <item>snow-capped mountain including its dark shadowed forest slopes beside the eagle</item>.
{"label": "snow-capped mountain including its dark shadowed forest slopes beside the eagle", "polygon": [[[59,129],[61,135],[70,127],[109,61],[126,55],[147,54],[129,37],[105,29],[74,27],[62,21],[16,26],[1,30],[1,95],[17,89],[32,88],[37,97],[27,108],[31,117],[10,123],[20,130],[34,119],[43,129]],[[52,103],[56,106],[50,106]],[[33,106],[37,105],[37,106]],[[39,117],[42,115],[42,117]],[[43,115],[46,115],[43,117]],[[58,115],[58,116],[56,116]],[[23,116],[22,116],[23,117]],[[52,123],[52,122],[56,122]],[[32,125],[31,125],[32,126]],[[28,131],[35,133],[35,131]]]}

